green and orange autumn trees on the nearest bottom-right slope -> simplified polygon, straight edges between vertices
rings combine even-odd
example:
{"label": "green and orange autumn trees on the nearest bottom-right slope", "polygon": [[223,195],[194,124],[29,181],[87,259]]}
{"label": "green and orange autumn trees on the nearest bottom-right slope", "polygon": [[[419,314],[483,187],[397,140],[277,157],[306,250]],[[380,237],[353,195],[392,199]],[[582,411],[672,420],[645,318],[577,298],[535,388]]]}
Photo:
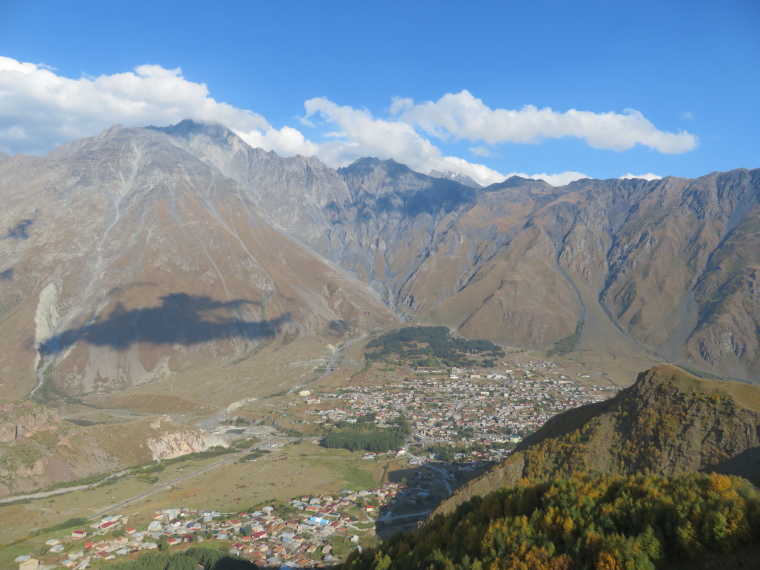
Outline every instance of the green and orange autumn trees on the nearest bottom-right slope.
{"label": "green and orange autumn trees on the nearest bottom-right slope", "polygon": [[343,568],[750,568],[758,539],[760,493],[740,477],[587,474],[475,497]]}

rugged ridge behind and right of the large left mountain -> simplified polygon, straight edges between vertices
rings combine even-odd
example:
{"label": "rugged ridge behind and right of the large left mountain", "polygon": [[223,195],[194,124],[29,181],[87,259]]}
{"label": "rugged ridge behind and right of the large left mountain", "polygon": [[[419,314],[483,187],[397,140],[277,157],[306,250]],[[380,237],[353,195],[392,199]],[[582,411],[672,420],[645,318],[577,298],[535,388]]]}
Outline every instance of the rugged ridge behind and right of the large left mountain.
{"label": "rugged ridge behind and right of the large left mountain", "polygon": [[583,321],[592,350],[760,371],[758,171],[564,187],[512,177],[481,189],[392,160],[333,171],[213,125],[163,131],[402,315],[531,348]]}

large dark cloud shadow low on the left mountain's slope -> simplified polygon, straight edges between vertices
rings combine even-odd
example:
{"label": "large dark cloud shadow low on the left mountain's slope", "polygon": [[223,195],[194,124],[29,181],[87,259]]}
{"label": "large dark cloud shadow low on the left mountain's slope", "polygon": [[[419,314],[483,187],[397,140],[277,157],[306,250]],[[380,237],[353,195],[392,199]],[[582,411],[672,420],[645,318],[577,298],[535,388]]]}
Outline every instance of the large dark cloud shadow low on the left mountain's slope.
{"label": "large dark cloud shadow low on the left mountain's slope", "polygon": [[292,320],[290,313],[266,321],[243,320],[238,312],[249,305],[260,303],[244,299],[214,301],[186,293],[161,297],[157,307],[127,310],[119,303],[103,319],[63,331],[38,350],[43,355],[57,354],[80,341],[123,350],[137,342],[190,346],[231,338],[255,340],[274,336],[283,323]]}

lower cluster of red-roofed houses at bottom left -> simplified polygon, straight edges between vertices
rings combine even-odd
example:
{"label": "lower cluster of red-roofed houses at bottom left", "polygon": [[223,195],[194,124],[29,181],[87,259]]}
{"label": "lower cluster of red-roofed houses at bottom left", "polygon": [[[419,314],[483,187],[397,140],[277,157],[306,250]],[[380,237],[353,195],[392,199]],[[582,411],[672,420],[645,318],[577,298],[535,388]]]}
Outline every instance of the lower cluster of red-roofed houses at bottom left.
{"label": "lower cluster of red-roofed houses at bottom left", "polygon": [[[154,513],[145,528],[129,526],[126,516],[109,516],[89,528],[48,540],[44,565],[80,570],[96,560],[203,541],[224,542],[232,554],[260,567],[332,565],[340,562],[334,552],[336,543],[353,549],[369,532],[367,527],[373,526],[366,523],[373,522],[379,508],[403,490],[403,485],[389,483],[372,490],[345,490],[337,496],[303,496],[234,514],[165,509]],[[40,559],[31,555],[19,556],[16,562],[20,570],[41,567]]]}

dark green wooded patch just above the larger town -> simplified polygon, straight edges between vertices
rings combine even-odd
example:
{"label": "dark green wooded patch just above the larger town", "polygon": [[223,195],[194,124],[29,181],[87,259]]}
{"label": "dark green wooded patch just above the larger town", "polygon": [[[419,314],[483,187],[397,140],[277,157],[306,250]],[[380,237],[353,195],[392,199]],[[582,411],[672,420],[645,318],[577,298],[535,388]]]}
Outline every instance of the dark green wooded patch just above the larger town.
{"label": "dark green wooded patch just above the larger town", "polygon": [[410,366],[493,367],[504,351],[487,340],[454,337],[443,326],[404,327],[370,341],[366,356]]}

